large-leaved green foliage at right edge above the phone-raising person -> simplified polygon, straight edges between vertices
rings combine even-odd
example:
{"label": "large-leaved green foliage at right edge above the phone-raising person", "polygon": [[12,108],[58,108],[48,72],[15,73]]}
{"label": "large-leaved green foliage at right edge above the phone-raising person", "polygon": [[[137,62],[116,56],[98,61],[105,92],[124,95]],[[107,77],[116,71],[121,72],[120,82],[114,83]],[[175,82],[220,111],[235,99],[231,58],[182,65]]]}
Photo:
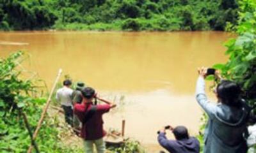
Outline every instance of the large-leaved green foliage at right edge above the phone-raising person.
{"label": "large-leaved green foliage at right edge above the phone-raising person", "polygon": [[234,80],[243,87],[243,98],[253,106],[256,100],[256,1],[240,1],[237,38],[226,43],[229,60],[216,64],[223,77]]}

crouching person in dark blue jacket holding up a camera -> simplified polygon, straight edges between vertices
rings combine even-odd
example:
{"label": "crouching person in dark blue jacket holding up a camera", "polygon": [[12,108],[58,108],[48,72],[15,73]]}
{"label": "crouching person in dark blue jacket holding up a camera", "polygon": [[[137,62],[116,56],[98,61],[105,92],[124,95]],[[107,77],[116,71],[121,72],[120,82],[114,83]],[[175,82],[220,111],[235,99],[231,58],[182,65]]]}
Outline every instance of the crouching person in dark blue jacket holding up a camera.
{"label": "crouching person in dark blue jacket holding up a camera", "polygon": [[194,138],[190,137],[188,134],[188,129],[184,126],[177,126],[172,128],[170,126],[170,131],[172,131],[175,140],[168,140],[166,138],[166,128],[160,130],[158,135],[159,144],[172,153],[199,153],[200,143]]}

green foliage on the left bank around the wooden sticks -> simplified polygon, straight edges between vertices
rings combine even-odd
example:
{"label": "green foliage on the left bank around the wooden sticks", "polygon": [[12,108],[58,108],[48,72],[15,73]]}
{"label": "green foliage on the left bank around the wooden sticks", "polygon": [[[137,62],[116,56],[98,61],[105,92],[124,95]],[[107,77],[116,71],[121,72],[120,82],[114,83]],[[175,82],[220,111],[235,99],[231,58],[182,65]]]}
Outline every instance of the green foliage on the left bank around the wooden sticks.
{"label": "green foliage on the left bank around the wooden sticks", "polygon": [[[0,59],[0,150],[1,152],[26,152],[31,144],[28,130],[19,113],[22,110],[28,116],[33,129],[40,119],[45,98],[38,98],[38,92],[32,80],[21,79],[24,75],[20,62],[24,60],[22,52]],[[64,147],[60,141],[60,131],[56,120],[46,117],[36,138],[41,152],[76,152]]]}

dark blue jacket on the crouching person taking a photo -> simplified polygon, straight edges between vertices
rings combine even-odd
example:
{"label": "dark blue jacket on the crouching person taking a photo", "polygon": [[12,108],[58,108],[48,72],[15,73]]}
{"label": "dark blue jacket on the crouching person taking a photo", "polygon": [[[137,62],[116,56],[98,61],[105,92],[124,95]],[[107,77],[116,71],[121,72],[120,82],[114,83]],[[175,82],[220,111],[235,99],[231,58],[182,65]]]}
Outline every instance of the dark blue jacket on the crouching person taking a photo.
{"label": "dark blue jacket on the crouching person taking a photo", "polygon": [[172,153],[199,153],[200,143],[196,138],[190,137],[183,140],[168,140],[165,133],[159,133],[159,144]]}

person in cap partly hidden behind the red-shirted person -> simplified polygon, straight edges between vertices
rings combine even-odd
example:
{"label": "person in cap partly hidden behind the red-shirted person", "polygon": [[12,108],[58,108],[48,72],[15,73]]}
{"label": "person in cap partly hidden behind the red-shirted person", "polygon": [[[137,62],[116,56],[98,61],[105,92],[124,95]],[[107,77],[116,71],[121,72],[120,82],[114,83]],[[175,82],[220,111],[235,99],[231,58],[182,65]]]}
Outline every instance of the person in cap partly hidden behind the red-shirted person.
{"label": "person in cap partly hidden behind the red-shirted person", "polygon": [[[73,105],[75,105],[76,103],[82,103],[83,101],[83,96],[82,96],[82,90],[84,89],[84,83],[83,82],[77,82],[76,84],[76,90],[73,91],[72,93],[72,103]],[[73,117],[73,127],[74,127],[74,131],[75,133],[79,133],[79,130],[81,129],[81,122],[79,121],[79,119],[77,118],[76,115],[74,115]]]}

